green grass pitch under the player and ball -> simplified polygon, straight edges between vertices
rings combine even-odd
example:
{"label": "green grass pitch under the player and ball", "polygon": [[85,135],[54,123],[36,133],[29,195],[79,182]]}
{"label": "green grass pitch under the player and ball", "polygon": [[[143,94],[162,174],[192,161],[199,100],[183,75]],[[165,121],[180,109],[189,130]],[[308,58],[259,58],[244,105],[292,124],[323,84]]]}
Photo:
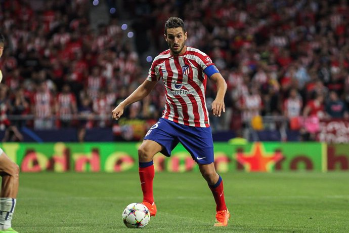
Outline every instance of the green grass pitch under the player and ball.
{"label": "green grass pitch under the player and ball", "polygon": [[24,232],[349,232],[349,174],[222,174],[232,218],[215,228],[215,204],[199,173],[157,173],[158,208],[143,229],[121,213],[140,202],[138,173],[22,173],[13,226]]}

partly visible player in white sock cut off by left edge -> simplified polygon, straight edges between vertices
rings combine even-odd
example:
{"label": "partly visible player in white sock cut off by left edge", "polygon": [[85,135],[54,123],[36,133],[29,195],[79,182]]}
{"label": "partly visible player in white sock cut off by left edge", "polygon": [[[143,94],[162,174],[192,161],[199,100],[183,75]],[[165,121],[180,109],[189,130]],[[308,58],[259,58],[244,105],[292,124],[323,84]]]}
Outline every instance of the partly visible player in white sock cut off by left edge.
{"label": "partly visible player in white sock cut off by left edge", "polygon": [[[0,34],[0,57],[3,55],[5,37]],[[0,70],[0,82],[3,73]],[[19,167],[12,162],[7,154],[0,148],[0,175],[2,184],[0,191],[0,233],[17,232],[11,226],[12,215],[15,211],[16,197],[19,184]]]}

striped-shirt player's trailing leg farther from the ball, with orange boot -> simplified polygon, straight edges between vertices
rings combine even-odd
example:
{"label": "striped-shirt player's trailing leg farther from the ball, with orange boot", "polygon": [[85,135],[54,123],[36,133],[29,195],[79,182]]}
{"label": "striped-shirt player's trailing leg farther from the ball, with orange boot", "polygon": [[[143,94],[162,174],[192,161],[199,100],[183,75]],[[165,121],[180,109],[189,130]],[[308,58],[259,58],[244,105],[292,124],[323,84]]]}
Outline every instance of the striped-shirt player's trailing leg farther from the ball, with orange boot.
{"label": "striped-shirt player's trailing leg farther from the ball, with orange boot", "polygon": [[199,164],[200,172],[207,181],[216,204],[216,215],[214,226],[227,226],[230,213],[224,199],[223,179],[214,169],[214,164]]}

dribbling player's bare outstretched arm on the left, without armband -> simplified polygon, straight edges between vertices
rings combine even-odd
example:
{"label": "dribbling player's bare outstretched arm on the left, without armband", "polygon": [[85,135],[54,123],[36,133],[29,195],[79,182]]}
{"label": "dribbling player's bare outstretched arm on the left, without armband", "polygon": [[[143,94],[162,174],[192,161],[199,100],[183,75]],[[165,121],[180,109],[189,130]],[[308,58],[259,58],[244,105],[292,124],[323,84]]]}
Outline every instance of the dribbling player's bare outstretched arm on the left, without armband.
{"label": "dribbling player's bare outstretched arm on the left, without armband", "polygon": [[123,109],[127,105],[135,103],[135,102],[143,99],[147,95],[149,95],[149,93],[155,87],[156,83],[157,82],[154,82],[154,81],[148,81],[148,80],[144,81],[141,86],[139,86],[132,94],[130,94],[124,101],[119,103],[119,105],[117,105],[114,108],[114,110],[112,110],[113,118],[115,120],[118,120],[123,113]]}

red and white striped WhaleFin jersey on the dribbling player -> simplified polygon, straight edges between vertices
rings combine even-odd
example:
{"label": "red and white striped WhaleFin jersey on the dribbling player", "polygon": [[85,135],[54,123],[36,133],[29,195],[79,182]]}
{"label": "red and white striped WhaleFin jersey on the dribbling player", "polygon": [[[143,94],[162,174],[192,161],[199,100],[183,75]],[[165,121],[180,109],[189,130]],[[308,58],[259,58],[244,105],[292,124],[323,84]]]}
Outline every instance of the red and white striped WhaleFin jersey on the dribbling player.
{"label": "red and white striped WhaleFin jersey on the dribbling player", "polygon": [[204,69],[214,65],[211,58],[198,49],[187,47],[182,56],[173,57],[166,50],[155,57],[148,81],[163,80],[165,109],[162,118],[194,127],[209,127]]}

